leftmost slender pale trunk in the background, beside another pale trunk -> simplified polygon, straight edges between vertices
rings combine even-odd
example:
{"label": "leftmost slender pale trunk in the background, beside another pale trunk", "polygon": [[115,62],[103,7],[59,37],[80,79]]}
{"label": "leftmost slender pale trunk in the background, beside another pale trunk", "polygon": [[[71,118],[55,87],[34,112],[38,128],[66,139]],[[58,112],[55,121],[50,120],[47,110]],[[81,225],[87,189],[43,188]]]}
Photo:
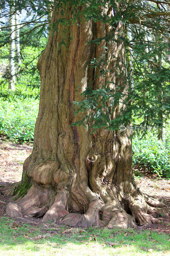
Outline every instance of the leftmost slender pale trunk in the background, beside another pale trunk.
{"label": "leftmost slender pale trunk in the background, beside another pale trunk", "polygon": [[[11,10],[10,10],[11,11]],[[15,90],[15,16],[11,15],[10,20],[10,42],[9,42],[9,80],[8,80],[8,89]]]}

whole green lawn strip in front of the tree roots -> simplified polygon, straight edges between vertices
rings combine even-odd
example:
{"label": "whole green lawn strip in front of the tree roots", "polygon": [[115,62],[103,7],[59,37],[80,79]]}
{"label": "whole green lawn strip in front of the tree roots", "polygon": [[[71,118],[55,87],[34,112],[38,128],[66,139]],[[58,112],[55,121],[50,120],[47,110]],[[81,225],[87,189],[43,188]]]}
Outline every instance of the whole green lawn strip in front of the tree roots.
{"label": "whole green lawn strip in front of the tree roots", "polygon": [[170,255],[165,233],[48,225],[37,227],[1,217],[0,255]]}

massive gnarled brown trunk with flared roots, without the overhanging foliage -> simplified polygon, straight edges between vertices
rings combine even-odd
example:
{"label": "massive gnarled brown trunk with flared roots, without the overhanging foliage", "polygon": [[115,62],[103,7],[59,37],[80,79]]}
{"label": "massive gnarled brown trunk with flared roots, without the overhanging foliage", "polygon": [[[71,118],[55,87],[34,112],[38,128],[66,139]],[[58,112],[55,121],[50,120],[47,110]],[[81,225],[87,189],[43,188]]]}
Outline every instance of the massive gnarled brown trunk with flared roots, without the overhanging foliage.
{"label": "massive gnarled brown trunk with flared roots, without the overhanging foliage", "polygon": [[[82,9],[80,8],[80,13]],[[66,20],[71,18],[71,8],[64,7]],[[111,15],[110,8],[103,12]],[[59,15],[59,17],[57,16]],[[52,23],[62,14],[54,8]],[[168,215],[166,201],[158,201],[144,195],[136,187],[132,173],[132,141],[130,130],[119,131],[99,129],[91,134],[88,127],[70,126],[81,120],[82,113],[74,116],[73,101],[81,101],[81,92],[90,81],[93,88],[99,88],[106,80],[109,86],[121,86],[127,92],[125,50],[122,42],[102,40],[100,45],[89,44],[92,39],[107,36],[110,29],[124,33],[119,22],[116,28],[109,28],[101,21],[86,21],[80,26],[58,25],[58,31],[50,33],[48,44],[38,61],[41,76],[39,114],[35,124],[32,154],[26,159],[22,181],[3,190],[11,195],[18,187],[32,186],[27,194],[16,203],[9,203],[9,216],[41,217],[70,226],[128,227],[158,222],[148,212]],[[68,48],[60,46],[63,31],[72,39]],[[107,46],[107,54],[105,53]],[[90,67],[90,60],[105,54],[103,62],[106,76],[98,76],[100,68]],[[119,64],[119,69],[116,68]],[[115,73],[118,76],[115,76]],[[114,117],[122,108],[115,106]],[[16,187],[16,188],[15,188]],[[12,191],[12,192],[11,192]],[[158,207],[158,208],[156,208]]]}

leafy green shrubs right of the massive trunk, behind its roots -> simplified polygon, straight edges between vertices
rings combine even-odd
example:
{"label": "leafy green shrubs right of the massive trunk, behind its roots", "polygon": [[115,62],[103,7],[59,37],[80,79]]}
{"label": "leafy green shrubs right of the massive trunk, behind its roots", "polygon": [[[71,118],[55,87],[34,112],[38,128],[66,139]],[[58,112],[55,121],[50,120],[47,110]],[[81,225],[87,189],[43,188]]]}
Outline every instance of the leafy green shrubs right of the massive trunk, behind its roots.
{"label": "leafy green shrubs right of the massive trunk, behind its roots", "polygon": [[133,164],[144,166],[159,177],[170,178],[170,142],[163,143],[152,133],[149,138],[133,138]]}

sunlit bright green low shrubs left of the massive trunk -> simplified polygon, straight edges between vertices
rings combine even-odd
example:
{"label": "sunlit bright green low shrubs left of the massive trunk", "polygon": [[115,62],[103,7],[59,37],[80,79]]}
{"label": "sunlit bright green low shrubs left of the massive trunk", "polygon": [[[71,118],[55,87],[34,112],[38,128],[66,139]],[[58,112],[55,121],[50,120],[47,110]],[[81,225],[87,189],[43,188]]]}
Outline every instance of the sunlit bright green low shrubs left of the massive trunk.
{"label": "sunlit bright green low shrubs left of the massive trunk", "polygon": [[0,100],[0,134],[13,141],[33,141],[38,100]]}

